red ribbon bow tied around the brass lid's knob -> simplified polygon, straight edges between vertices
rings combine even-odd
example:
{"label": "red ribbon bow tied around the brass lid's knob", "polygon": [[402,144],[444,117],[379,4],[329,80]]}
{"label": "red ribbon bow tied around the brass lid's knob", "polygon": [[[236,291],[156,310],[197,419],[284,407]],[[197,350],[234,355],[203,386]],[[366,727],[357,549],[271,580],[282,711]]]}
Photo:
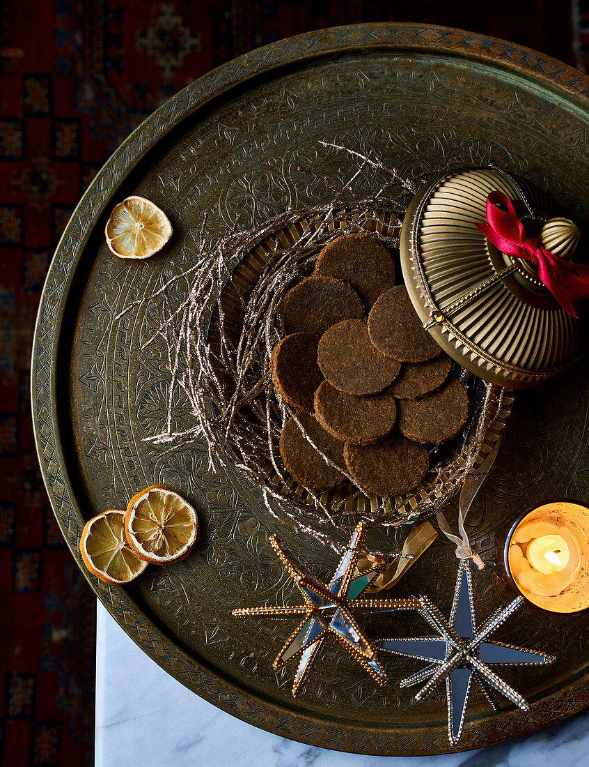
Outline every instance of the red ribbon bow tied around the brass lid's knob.
{"label": "red ribbon bow tied around the brass lid's knob", "polygon": [[574,301],[589,298],[589,265],[567,261],[542,247],[539,236],[528,237],[512,201],[502,192],[492,192],[487,197],[486,218],[488,224],[473,223],[502,253],[537,266],[538,277],[561,307],[577,317]]}

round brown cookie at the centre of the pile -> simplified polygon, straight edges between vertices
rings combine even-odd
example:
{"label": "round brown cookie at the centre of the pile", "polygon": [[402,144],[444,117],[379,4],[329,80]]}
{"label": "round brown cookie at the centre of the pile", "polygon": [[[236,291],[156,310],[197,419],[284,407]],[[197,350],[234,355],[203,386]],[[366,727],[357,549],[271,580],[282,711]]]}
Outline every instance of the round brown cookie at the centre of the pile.
{"label": "round brown cookie at the centre of the pile", "polygon": [[317,362],[332,387],[348,394],[375,394],[392,384],[401,363],[370,343],[366,320],[344,320],[321,337]]}

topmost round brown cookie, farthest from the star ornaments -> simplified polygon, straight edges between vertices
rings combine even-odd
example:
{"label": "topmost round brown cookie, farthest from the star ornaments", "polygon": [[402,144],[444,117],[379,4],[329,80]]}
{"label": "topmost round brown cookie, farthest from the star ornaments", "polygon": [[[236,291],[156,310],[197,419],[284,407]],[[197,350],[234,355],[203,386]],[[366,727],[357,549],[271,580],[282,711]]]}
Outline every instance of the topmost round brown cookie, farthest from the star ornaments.
{"label": "topmost round brown cookie, farthest from the star ornaments", "polygon": [[374,235],[343,235],[319,253],[313,275],[345,280],[370,309],[394,285],[394,262]]}

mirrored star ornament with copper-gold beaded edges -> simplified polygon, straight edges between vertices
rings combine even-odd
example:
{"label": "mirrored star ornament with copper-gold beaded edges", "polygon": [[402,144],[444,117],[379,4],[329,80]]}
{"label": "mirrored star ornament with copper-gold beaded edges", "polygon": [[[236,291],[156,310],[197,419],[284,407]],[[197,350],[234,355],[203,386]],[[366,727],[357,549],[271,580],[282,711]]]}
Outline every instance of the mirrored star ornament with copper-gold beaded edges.
{"label": "mirrored star ornament with copper-gold beaded edges", "polygon": [[237,617],[300,616],[299,624],[273,663],[275,669],[280,669],[290,660],[299,659],[293,681],[293,696],[296,696],[299,687],[306,680],[317,653],[328,637],[335,639],[348,650],[352,658],[378,684],[383,685],[387,682],[387,676],[376,658],[375,644],[355,620],[352,610],[360,609],[372,613],[412,610],[417,607],[417,600],[358,598],[379,573],[378,565],[375,565],[359,577],[354,576],[356,562],[362,555],[366,527],[365,522],[356,526],[329,584],[320,581],[283,540],[273,535],[270,544],[303,594],[304,604],[293,607],[286,604],[277,607],[241,607],[233,611]]}

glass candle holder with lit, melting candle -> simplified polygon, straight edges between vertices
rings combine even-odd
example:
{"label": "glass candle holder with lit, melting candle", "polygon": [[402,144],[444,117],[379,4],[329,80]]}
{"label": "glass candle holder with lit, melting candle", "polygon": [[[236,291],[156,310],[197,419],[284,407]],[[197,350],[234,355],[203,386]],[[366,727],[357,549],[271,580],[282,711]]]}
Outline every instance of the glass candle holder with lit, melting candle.
{"label": "glass candle holder with lit, melting candle", "polygon": [[554,501],[515,522],[505,565],[523,597],[551,613],[589,607],[589,509]]}

